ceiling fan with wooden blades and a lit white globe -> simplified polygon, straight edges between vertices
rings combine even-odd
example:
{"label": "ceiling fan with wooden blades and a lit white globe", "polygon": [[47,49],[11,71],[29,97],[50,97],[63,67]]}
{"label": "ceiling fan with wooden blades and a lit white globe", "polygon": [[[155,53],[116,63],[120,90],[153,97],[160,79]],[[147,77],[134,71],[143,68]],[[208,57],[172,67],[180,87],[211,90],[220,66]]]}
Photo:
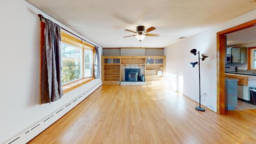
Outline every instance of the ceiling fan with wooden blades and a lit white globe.
{"label": "ceiling fan with wooden blades and a lit white globe", "polygon": [[[136,36],[137,40],[142,41],[146,36],[155,36],[155,37],[160,36],[160,34],[148,34],[148,32],[155,30],[155,29],[156,28],[154,28],[154,27],[150,27],[145,30],[144,26],[137,26],[137,28],[136,28],[137,32],[134,32],[132,30],[126,30],[126,31],[135,33],[135,35],[131,35],[131,36]],[[123,38],[126,38],[126,37],[129,37],[129,36],[124,36]]]}

